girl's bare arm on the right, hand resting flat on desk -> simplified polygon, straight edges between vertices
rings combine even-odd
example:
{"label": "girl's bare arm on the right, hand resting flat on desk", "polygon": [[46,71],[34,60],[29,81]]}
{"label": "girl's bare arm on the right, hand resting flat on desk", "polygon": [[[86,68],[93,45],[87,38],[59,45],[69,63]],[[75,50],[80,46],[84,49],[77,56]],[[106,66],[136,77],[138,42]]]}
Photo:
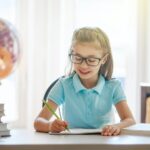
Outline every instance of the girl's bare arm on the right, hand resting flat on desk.
{"label": "girl's bare arm on the right, hand resting flat on desk", "polygon": [[122,128],[135,124],[135,120],[126,101],[117,103],[115,107],[120,116],[121,122],[104,127],[102,135],[118,135],[120,134]]}

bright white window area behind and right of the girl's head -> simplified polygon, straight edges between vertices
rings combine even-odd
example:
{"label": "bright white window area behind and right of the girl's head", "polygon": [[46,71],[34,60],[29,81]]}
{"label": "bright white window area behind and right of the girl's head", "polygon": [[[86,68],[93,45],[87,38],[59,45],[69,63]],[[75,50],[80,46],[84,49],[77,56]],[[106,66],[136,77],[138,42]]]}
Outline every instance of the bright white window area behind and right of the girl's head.
{"label": "bright white window area behind and right of the girl's head", "polygon": [[76,0],[76,26],[98,26],[108,35],[114,58],[113,76],[122,81],[133,113],[136,110],[133,102],[136,90],[132,90],[136,89],[136,15],[136,0]]}

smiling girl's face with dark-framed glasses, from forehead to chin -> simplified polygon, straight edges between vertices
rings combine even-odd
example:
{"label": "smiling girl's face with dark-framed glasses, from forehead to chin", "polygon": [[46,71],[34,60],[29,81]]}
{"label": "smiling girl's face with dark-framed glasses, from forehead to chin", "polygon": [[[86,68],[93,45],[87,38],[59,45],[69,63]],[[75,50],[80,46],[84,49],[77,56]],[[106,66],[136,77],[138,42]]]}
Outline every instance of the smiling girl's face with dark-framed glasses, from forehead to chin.
{"label": "smiling girl's face with dark-framed glasses, from forehead to chin", "polygon": [[[100,67],[105,62],[102,59],[102,50],[95,48],[92,44],[86,43],[74,45],[72,47],[72,51],[74,57],[72,59],[77,61],[77,63],[73,63],[73,67],[76,73],[79,75],[80,79],[97,81]],[[90,64],[92,66],[90,66]]]}

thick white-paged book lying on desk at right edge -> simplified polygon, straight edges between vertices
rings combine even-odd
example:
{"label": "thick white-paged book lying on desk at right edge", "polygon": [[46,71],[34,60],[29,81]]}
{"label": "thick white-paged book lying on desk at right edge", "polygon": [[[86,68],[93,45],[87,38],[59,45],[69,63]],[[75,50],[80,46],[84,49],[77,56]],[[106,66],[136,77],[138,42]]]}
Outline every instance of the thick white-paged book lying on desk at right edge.
{"label": "thick white-paged book lying on desk at right edge", "polygon": [[123,128],[121,134],[150,136],[150,124],[139,123]]}

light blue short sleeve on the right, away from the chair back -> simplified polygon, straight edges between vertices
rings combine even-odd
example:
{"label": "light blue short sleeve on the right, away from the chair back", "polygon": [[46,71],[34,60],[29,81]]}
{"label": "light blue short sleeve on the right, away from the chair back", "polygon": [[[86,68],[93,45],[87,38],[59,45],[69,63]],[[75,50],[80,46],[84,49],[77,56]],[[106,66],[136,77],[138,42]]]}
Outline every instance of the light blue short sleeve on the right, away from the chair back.
{"label": "light blue short sleeve on the right, away from the chair back", "polygon": [[118,102],[126,100],[126,96],[120,81],[116,80],[116,86],[113,93],[113,103],[117,104]]}

